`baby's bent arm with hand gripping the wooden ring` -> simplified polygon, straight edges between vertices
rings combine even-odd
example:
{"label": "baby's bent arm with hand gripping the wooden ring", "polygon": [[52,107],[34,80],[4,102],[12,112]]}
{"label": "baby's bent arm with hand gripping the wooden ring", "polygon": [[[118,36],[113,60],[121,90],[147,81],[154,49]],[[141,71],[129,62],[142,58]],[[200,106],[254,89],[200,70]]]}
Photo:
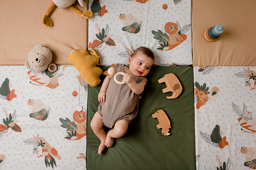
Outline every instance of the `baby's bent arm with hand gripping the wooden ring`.
{"label": "baby's bent arm with hand gripping the wooden ring", "polygon": [[132,80],[132,76],[127,73],[124,74],[123,81],[126,82],[126,84],[128,84],[128,86],[135,94],[141,94],[146,85],[146,82],[137,84],[135,81]]}

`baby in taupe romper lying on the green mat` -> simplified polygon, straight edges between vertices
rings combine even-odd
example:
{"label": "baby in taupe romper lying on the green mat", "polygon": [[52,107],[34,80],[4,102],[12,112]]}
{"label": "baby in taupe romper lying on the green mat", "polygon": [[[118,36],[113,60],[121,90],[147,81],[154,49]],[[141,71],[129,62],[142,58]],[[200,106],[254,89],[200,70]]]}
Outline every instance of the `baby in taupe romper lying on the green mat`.
{"label": "baby in taupe romper lying on the green mat", "polygon": [[[105,147],[113,145],[113,138],[122,137],[128,128],[128,124],[138,113],[139,99],[147,83],[144,78],[154,64],[153,52],[140,47],[134,51],[128,59],[129,67],[124,64],[116,64],[117,72],[124,72],[123,82],[117,84],[114,76],[106,76],[98,94],[98,111],[91,120],[91,129],[101,140],[98,148],[100,155]],[[117,80],[120,77],[117,76]],[[121,81],[121,80],[119,80]],[[110,128],[106,134],[103,125]]]}

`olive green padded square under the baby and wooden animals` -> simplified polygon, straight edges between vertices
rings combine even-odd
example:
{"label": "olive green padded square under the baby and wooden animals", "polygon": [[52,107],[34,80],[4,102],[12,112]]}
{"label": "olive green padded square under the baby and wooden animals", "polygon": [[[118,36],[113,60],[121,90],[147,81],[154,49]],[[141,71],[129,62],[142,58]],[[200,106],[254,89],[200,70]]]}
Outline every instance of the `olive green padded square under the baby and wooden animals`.
{"label": "olive green padded square under the baby and wooden animals", "polygon": [[[103,71],[108,67],[101,67]],[[158,80],[173,73],[182,86],[181,94],[167,99],[172,92],[163,93],[165,83]],[[105,78],[101,77],[101,83]],[[98,155],[99,139],[90,127],[91,119],[98,110],[98,92],[101,84],[89,86],[87,104],[87,170],[194,170],[195,116],[193,94],[193,70],[189,66],[152,67],[146,76],[148,83],[139,100],[139,112],[128,126],[127,133],[114,139],[114,145]],[[127,103],[128,104],[128,103]],[[157,129],[158,119],[153,118],[159,109],[170,120],[170,135],[163,135]],[[108,130],[106,128],[106,130]]]}

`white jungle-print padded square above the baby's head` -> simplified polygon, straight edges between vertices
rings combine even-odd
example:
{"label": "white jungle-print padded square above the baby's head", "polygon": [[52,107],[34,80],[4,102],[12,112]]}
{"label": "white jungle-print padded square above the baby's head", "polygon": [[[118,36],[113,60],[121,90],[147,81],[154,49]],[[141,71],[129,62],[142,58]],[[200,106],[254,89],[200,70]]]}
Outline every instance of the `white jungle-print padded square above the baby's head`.
{"label": "white jungle-print padded square above the baby's head", "polygon": [[89,0],[88,49],[101,66],[127,64],[132,51],[150,48],[158,66],[191,65],[191,0]]}

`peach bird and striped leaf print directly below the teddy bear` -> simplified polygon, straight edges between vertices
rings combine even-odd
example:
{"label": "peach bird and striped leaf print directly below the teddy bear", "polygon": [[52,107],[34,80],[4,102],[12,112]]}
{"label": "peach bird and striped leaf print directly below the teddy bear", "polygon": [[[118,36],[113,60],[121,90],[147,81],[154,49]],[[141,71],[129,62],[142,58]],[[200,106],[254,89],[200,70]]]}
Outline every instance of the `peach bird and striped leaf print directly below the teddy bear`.
{"label": "peach bird and striped leaf print directly below the teddy bear", "polygon": [[36,120],[46,120],[50,114],[50,108],[48,108],[41,99],[34,100],[34,104],[30,109],[31,114],[30,118],[34,118]]}

